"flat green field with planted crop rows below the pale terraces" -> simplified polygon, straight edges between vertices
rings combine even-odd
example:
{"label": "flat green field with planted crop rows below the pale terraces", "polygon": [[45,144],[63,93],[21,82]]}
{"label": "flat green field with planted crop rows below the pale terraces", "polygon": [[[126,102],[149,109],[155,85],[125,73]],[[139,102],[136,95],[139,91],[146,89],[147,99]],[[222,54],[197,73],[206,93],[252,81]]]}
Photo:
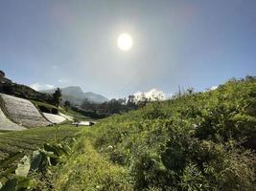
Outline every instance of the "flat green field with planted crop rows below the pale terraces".
{"label": "flat green field with planted crop rows below the pale terraces", "polygon": [[[81,127],[68,124],[54,127],[33,128],[19,132],[0,134],[0,181],[9,178],[11,171],[25,155],[30,156],[33,151],[41,148],[44,143],[61,143],[65,138],[75,138]],[[5,175],[5,176],[4,176]],[[6,176],[7,175],[7,176]],[[12,177],[12,175],[11,175]]]}

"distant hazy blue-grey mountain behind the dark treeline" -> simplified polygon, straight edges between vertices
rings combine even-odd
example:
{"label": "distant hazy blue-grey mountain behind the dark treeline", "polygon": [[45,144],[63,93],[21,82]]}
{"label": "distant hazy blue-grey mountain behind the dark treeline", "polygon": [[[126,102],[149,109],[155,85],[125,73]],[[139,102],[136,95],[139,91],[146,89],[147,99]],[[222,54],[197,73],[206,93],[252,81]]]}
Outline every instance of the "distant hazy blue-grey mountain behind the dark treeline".
{"label": "distant hazy blue-grey mountain behind the dark treeline", "polygon": [[[55,90],[56,89],[44,90],[40,92],[47,93],[47,94],[54,94]],[[92,101],[95,103],[103,103],[105,101],[108,101],[108,99],[102,95],[98,95],[91,92],[83,93],[81,90],[81,87],[79,86],[68,86],[66,88],[61,88],[60,90],[62,94],[62,100],[63,101],[68,100],[74,105],[81,105],[84,99],[88,99],[89,101]]]}

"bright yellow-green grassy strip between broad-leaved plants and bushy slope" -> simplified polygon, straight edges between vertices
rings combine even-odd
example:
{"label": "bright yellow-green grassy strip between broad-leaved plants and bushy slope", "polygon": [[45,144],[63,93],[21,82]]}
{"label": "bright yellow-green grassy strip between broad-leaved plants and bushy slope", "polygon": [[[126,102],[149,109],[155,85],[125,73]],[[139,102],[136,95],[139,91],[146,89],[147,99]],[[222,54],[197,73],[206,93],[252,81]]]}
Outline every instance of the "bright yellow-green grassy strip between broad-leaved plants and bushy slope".
{"label": "bright yellow-green grassy strip between broad-leaved plants and bushy slope", "polygon": [[94,130],[86,128],[75,154],[58,168],[55,190],[132,190],[128,169],[114,164],[93,146]]}

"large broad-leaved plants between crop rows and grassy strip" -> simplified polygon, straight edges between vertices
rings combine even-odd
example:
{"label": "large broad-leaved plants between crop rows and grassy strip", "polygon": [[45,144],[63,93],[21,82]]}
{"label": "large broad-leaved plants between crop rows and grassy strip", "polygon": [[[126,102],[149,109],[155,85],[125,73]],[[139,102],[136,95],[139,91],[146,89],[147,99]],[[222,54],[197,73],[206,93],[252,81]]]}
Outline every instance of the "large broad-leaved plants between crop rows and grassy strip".
{"label": "large broad-leaved plants between crop rows and grassy strip", "polygon": [[[61,143],[46,143],[42,149],[35,150],[31,157],[24,156],[15,169],[12,179],[2,185],[1,191],[6,190],[41,190],[47,187],[43,185],[45,178],[52,177],[54,168],[64,156],[70,155],[71,145],[76,143],[75,138],[65,139]],[[35,177],[36,173],[36,177]],[[49,189],[49,185],[48,185]]]}

